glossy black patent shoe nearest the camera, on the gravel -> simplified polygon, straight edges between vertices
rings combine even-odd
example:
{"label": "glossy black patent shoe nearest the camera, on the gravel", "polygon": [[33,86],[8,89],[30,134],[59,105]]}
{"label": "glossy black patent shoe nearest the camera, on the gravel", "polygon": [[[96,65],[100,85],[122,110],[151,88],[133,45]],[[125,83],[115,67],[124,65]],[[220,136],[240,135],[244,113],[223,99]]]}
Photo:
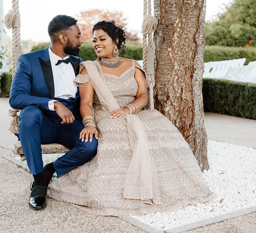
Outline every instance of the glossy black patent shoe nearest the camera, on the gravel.
{"label": "glossy black patent shoe nearest the camera, on the gravel", "polygon": [[40,210],[46,207],[47,187],[35,186],[29,197],[29,207],[34,210]]}

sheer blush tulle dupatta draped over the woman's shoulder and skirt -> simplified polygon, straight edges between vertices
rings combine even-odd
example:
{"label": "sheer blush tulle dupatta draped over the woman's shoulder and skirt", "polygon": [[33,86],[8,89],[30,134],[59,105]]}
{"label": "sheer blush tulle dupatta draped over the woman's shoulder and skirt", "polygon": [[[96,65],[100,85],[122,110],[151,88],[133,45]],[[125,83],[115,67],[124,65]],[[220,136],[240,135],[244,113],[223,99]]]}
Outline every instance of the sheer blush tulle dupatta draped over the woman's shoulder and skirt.
{"label": "sheer blush tulle dupatta draped over the woman's shoulder and skirt", "polygon": [[[114,96],[105,85],[96,65],[91,61],[82,62],[82,64],[90,76],[102,109],[108,113],[120,109]],[[149,204],[160,205],[158,175],[146,131],[139,117],[130,114],[124,117],[127,119],[126,126],[130,128],[129,131],[132,132],[135,143],[131,145],[133,148],[132,158],[125,179],[123,197],[140,199]]]}

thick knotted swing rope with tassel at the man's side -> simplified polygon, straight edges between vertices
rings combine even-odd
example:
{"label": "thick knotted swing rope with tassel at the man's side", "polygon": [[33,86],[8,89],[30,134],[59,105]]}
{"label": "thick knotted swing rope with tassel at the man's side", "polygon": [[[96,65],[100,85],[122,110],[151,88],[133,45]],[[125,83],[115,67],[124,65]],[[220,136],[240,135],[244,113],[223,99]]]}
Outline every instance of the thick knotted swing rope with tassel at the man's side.
{"label": "thick knotted swing rope with tassel at the man's side", "polygon": [[[20,43],[20,13],[19,13],[19,1],[12,0],[12,10],[9,10],[4,17],[4,24],[6,28],[12,28],[12,77],[16,72],[18,59],[22,54]],[[18,133],[19,116],[17,113],[20,110],[11,108],[9,110],[9,116],[12,116],[9,130],[11,133]]]}

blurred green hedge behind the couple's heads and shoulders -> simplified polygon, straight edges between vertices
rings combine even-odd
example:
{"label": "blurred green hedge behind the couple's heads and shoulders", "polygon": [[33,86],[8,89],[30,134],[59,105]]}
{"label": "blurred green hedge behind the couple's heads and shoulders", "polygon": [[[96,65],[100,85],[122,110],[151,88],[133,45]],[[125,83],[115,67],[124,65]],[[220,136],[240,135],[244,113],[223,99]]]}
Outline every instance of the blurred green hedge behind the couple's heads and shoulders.
{"label": "blurred green hedge behind the couple's heads and shoulders", "polygon": [[[41,43],[37,46],[34,46],[31,49],[31,52],[39,49],[44,49],[50,44],[51,43]],[[141,43],[127,42],[125,45],[127,46],[126,47],[127,54],[120,53],[119,54],[120,57],[134,59],[136,61],[142,60],[142,44]],[[95,54],[94,49],[92,47],[92,42],[85,41],[84,44],[81,45],[80,53],[78,57],[82,58],[84,61],[87,61],[87,60],[94,61],[97,59],[97,55]]]}

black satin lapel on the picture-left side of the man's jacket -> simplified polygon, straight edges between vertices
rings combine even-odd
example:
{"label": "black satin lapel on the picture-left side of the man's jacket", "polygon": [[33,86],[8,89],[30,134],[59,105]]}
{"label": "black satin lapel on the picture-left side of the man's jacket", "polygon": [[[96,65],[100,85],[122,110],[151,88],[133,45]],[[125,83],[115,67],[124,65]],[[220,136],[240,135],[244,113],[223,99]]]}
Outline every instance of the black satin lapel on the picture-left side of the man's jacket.
{"label": "black satin lapel on the picture-left side of the man's jacket", "polygon": [[51,61],[50,59],[47,61],[44,61],[41,58],[38,58],[38,59],[43,71],[43,75],[44,75],[47,87],[49,88],[51,98],[54,99],[54,82],[53,82]]}

